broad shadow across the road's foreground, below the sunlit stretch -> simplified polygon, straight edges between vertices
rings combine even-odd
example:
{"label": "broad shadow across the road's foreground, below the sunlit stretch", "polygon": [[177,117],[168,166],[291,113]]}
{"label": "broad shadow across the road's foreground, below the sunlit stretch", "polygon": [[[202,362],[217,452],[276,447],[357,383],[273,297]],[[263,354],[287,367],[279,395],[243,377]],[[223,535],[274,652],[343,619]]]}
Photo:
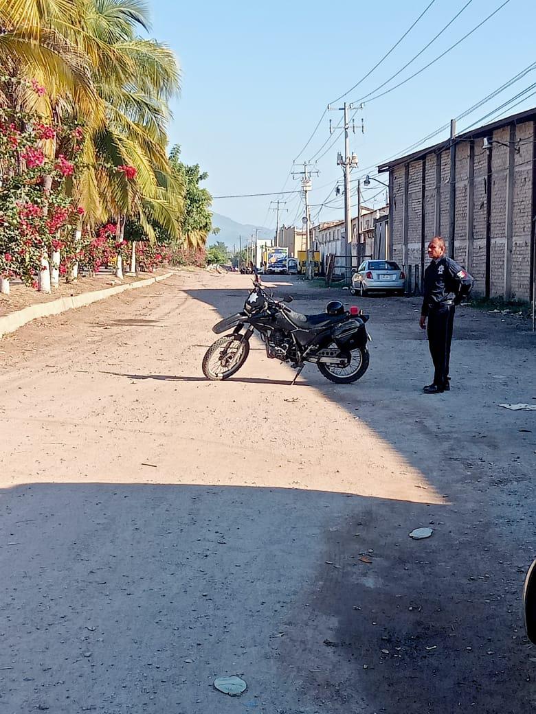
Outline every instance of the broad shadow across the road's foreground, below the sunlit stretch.
{"label": "broad shadow across the road's foreground, below the sunlit stretch", "polygon": [[[212,688],[220,673],[242,673],[263,714],[535,706],[516,628],[522,573],[506,545],[493,575],[482,568],[482,543],[442,528],[443,508],[125,483],[0,498],[6,710],[232,714]],[[407,538],[408,509],[432,516],[430,540]]]}

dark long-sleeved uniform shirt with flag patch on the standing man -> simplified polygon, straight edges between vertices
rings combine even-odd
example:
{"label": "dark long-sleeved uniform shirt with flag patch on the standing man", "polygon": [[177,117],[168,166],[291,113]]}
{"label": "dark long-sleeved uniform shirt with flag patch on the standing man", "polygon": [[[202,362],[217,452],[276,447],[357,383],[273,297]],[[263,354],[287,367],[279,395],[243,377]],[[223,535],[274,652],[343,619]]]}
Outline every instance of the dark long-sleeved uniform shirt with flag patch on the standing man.
{"label": "dark long-sleeved uniform shirt with flag patch on the standing man", "polygon": [[422,315],[441,303],[457,305],[469,295],[473,279],[462,266],[447,256],[432,261],[425,270],[425,291],[422,300]]}

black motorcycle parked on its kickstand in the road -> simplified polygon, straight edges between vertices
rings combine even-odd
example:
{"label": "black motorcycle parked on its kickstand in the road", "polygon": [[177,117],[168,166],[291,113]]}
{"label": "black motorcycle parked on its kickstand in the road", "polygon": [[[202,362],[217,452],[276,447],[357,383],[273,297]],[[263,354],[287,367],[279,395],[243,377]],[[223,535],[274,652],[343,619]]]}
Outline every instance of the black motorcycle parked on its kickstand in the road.
{"label": "black motorcycle parked on its kickstand in the road", "polygon": [[289,362],[297,369],[292,384],[307,362],[316,364],[325,378],[337,384],[360,379],[369,366],[367,341],[372,338],[365,328],[369,316],[355,306],[344,310],[339,301],[328,303],[319,315],[302,315],[285,304],[290,302],[292,296],[276,300],[255,272],[244,309],[212,328],[216,334],[234,329],[205,353],[204,376],[223,380],[237,373],[249,355],[249,339],[257,331],[267,357]]}

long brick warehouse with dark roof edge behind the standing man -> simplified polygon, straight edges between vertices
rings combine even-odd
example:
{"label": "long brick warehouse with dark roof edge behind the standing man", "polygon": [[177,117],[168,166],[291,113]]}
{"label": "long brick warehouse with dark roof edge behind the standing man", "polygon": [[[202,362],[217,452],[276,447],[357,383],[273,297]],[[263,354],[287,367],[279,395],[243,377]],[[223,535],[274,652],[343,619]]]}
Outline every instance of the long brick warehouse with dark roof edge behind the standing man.
{"label": "long brick warehouse with dark roof edge behind the standing man", "polygon": [[430,238],[475,277],[475,293],[532,299],[536,109],[389,161],[389,255],[422,269]]}

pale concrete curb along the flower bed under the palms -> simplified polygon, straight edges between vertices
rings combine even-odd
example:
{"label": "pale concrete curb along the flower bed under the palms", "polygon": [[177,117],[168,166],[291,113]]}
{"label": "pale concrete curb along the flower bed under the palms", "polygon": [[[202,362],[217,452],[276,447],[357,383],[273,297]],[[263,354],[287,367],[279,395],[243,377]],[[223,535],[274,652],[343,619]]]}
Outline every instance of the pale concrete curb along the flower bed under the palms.
{"label": "pale concrete curb along the flower bed under the palms", "polygon": [[95,290],[91,293],[81,293],[81,295],[74,295],[69,298],[58,298],[57,300],[51,300],[49,303],[39,303],[38,305],[31,305],[23,310],[17,310],[9,315],[0,317],[0,338],[11,332],[15,332],[19,327],[37,318],[59,315],[59,313],[72,310],[73,308],[83,308],[86,305],[91,305],[91,303],[96,303],[112,295],[117,295],[117,293],[124,293],[126,290],[134,290],[136,288],[144,288],[153,283],[166,280],[173,274],[174,273],[164,273],[164,275],[147,278],[146,280],[140,280],[136,283],[126,283],[126,285],[118,285],[113,288],[105,288],[104,290]]}

